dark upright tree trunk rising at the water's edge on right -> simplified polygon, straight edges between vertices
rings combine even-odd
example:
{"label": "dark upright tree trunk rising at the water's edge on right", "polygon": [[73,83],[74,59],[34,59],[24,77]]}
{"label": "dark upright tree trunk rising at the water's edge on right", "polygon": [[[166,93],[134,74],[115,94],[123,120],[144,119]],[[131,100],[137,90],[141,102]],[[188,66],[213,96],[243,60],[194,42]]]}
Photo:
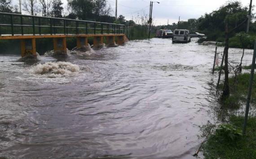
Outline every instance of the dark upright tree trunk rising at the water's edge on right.
{"label": "dark upright tree trunk rising at the water's edge on right", "polygon": [[228,24],[226,23],[225,26],[225,48],[224,48],[224,55],[225,55],[225,81],[224,81],[224,88],[223,88],[223,97],[228,97],[230,95],[230,85],[229,85],[229,64],[228,64],[228,57],[229,57],[229,28]]}

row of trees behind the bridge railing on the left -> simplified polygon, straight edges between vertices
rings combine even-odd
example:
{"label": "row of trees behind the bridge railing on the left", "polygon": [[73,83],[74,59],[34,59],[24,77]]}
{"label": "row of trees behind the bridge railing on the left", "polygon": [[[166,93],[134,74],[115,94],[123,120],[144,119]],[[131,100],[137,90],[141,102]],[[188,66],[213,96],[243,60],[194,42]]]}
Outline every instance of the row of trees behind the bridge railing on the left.
{"label": "row of trees behind the bridge railing on the left", "polygon": [[[67,0],[67,2],[67,13],[64,13],[62,0],[22,0],[22,13],[126,24],[124,16],[120,15],[115,19],[111,15],[112,9],[107,0]],[[0,12],[20,13],[20,10],[18,4],[12,5],[12,0],[0,0]],[[129,24],[134,24],[134,21],[129,21]]]}

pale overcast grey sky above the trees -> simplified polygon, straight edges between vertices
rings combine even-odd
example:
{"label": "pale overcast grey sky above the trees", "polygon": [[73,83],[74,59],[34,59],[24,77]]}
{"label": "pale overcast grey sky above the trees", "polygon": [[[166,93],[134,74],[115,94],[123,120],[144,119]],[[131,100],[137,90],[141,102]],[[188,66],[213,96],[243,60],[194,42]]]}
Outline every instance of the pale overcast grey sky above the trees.
{"label": "pale overcast grey sky above the trees", "polygon": [[[64,8],[67,8],[67,0],[62,0]],[[154,0],[160,4],[153,4],[153,21],[155,25],[177,22],[179,16],[185,21],[190,18],[199,18],[204,13],[216,10],[227,0]],[[240,0],[244,6],[249,6],[250,0]],[[252,4],[255,4],[253,0]],[[18,0],[13,0],[18,3]],[[108,0],[115,15],[115,0]],[[118,0],[118,15],[124,15],[125,19],[135,19],[137,15],[149,14],[150,0]]]}

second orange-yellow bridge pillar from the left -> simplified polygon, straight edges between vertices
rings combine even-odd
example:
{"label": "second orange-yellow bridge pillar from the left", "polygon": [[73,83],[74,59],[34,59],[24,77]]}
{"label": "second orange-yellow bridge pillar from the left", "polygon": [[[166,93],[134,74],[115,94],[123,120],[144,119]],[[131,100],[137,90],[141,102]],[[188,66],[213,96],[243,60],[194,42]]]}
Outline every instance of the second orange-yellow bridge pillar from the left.
{"label": "second orange-yellow bridge pillar from the left", "polygon": [[54,56],[66,54],[66,38],[53,38]]}

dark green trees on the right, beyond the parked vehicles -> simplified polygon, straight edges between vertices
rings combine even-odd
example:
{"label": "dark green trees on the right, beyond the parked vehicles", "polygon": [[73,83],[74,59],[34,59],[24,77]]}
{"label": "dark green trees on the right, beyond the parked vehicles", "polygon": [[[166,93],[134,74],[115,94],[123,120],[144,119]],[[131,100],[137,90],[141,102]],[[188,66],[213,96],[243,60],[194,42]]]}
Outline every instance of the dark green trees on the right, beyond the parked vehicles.
{"label": "dark green trees on the right, beyond the parked vehicles", "polygon": [[[235,28],[245,19],[247,19],[248,7],[243,6],[239,1],[228,1],[217,10],[211,13],[205,13],[199,18],[188,19],[170,25],[157,26],[157,29],[189,29],[190,32],[199,32],[207,35],[207,40],[225,42],[225,23],[229,27]],[[256,22],[253,21],[254,15],[250,21],[250,32],[247,39],[252,41],[256,36]],[[240,42],[241,35],[246,31],[246,23],[239,26],[235,32],[230,33],[230,46],[242,48]],[[239,34],[238,34],[239,33]],[[254,41],[254,40],[253,40]],[[247,44],[246,48],[252,48],[253,44]]]}

